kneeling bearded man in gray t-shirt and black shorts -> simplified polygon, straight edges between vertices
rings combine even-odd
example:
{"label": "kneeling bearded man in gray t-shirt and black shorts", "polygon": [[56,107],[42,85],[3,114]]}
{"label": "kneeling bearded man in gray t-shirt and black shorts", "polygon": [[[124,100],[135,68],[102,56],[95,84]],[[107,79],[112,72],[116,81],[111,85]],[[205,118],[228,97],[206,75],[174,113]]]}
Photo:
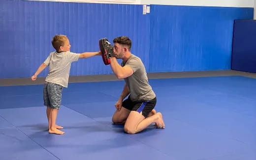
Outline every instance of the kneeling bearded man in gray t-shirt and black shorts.
{"label": "kneeling bearded man in gray t-shirt and black shorts", "polygon": [[[115,104],[117,110],[112,117],[113,123],[125,124],[124,130],[129,134],[138,133],[152,123],[158,128],[164,128],[161,113],[153,109],[157,98],[148,82],[144,64],[139,57],[130,53],[131,40],[121,36],[115,38],[113,43],[115,56],[110,57],[111,69],[118,79],[125,79],[126,82]],[[122,65],[117,59],[123,60]]]}

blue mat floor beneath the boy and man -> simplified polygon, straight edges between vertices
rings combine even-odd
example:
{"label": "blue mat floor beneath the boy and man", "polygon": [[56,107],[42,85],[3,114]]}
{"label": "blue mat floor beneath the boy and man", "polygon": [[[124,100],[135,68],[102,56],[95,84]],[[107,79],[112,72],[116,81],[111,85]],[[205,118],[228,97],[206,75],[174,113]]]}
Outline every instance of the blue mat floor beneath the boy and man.
{"label": "blue mat floor beneath the boy and man", "polygon": [[255,79],[156,79],[150,84],[165,129],[151,125],[132,135],[111,122],[124,81],[64,88],[57,118],[64,135],[47,132],[43,85],[0,87],[0,159],[256,160]]}

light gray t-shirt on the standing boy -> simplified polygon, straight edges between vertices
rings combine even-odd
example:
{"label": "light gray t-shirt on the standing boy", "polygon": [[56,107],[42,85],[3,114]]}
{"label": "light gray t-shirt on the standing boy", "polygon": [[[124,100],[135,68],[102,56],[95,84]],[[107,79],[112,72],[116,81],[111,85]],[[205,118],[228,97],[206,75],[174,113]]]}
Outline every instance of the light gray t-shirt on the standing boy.
{"label": "light gray t-shirt on the standing boy", "polygon": [[49,73],[45,81],[67,87],[71,63],[77,61],[78,58],[79,54],[69,51],[50,53],[44,61],[46,65],[49,65]]}

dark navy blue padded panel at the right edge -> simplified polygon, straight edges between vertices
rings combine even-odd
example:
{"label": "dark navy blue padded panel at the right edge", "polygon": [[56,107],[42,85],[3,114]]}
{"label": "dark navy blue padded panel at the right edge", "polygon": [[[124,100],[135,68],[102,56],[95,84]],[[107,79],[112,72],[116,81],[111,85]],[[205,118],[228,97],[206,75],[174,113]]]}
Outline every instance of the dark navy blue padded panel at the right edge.
{"label": "dark navy blue padded panel at the right edge", "polygon": [[256,73],[256,20],[234,22],[232,69]]}

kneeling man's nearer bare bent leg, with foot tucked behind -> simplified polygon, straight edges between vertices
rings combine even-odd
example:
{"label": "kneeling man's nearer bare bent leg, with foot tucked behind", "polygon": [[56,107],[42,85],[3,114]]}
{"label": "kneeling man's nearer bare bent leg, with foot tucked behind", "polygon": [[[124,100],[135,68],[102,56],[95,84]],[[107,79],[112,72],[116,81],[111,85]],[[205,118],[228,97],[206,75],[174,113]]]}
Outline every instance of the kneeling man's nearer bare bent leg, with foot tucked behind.
{"label": "kneeling man's nearer bare bent leg, with foot tucked behind", "polygon": [[125,124],[125,132],[129,134],[138,133],[152,123],[156,123],[158,128],[164,128],[164,123],[160,112],[145,118],[142,115],[142,112],[139,113],[137,111],[131,111]]}

